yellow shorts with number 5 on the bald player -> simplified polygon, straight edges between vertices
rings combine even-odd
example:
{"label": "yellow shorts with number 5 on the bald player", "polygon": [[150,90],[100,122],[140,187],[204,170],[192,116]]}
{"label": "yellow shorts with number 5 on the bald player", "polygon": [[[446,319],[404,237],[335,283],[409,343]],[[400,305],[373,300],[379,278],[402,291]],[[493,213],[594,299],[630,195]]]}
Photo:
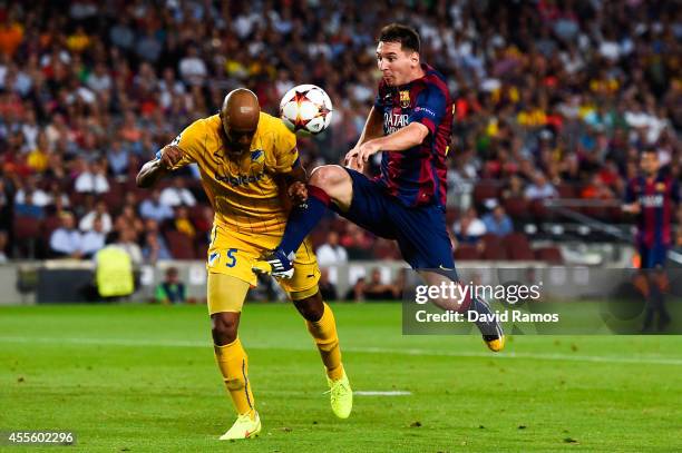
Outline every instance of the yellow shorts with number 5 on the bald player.
{"label": "yellow shorts with number 5 on the bald player", "polygon": [[[206,259],[208,273],[225,274],[256,285],[256,275],[251,270],[254,262],[275,248],[281,235],[246,235],[215,225],[211,232],[211,245]],[[277,279],[288,293],[304,293],[316,287],[320,279],[318,259],[309,238],[296,250],[293,263],[294,275],[290,279]]]}

